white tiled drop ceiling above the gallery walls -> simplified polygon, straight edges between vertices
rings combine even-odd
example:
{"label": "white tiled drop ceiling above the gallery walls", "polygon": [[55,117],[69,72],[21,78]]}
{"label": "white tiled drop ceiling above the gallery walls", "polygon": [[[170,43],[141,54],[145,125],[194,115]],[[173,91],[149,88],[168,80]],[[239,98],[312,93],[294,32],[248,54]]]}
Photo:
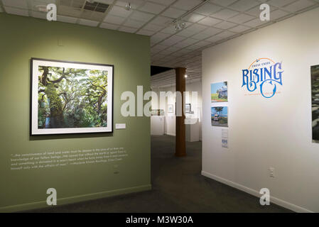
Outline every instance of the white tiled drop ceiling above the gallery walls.
{"label": "white tiled drop ceiling above the gallery walls", "polygon": [[[190,77],[200,77],[201,50],[319,6],[319,0],[210,0],[182,18],[185,28],[175,31],[173,20],[204,0],[96,1],[109,9],[87,11],[85,0],[0,0],[0,12],[45,19],[35,6],[55,3],[58,21],[151,36],[152,65],[187,67]],[[264,2],[271,6],[268,23],[259,20]]]}

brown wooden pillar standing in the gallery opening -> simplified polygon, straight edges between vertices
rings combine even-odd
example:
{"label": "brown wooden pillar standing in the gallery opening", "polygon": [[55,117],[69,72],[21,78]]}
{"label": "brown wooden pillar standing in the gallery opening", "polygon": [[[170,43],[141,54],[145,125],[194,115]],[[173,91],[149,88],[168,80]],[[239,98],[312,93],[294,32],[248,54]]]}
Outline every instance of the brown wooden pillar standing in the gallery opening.
{"label": "brown wooden pillar standing in the gallery opening", "polygon": [[[186,143],[185,143],[185,101],[183,94],[186,89],[185,85],[185,68],[176,68],[176,92],[180,92],[181,96],[176,95],[176,142],[175,142],[175,156],[186,156]],[[179,100],[181,99],[181,100]],[[178,116],[178,113],[181,116]],[[179,114],[179,115],[180,115]]]}

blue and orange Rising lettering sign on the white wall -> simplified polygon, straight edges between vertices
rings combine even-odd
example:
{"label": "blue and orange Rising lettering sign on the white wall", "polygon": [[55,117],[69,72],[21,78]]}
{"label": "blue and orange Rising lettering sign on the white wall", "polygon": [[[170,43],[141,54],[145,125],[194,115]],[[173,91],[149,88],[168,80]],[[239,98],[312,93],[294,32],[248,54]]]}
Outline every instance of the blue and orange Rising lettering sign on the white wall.
{"label": "blue and orange Rising lettering sign on the white wall", "polygon": [[274,62],[270,58],[262,57],[242,70],[242,87],[248,92],[260,91],[260,94],[269,99],[277,92],[277,86],[283,85],[282,62]]}

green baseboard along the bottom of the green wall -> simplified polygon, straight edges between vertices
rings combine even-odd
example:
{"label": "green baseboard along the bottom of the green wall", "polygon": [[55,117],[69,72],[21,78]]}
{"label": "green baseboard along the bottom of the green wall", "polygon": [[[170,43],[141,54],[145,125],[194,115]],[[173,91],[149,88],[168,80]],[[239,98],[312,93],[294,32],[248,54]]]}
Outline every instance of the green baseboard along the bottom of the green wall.
{"label": "green baseboard along the bottom of the green wall", "polygon": [[[97,192],[92,194],[84,194],[80,196],[71,196],[67,198],[61,198],[57,199],[57,204],[59,205],[65,205],[65,204],[74,204],[80,201],[87,201],[92,199],[102,199],[109,196],[117,196],[121,194],[130,194],[134,192],[144,192],[151,190],[151,184],[142,185],[139,187],[129,187],[125,189],[117,189],[112,191],[106,191],[106,192]],[[16,211],[28,211],[32,209],[40,209],[40,208],[47,208],[48,205],[46,204],[46,201],[37,201],[33,203],[28,204],[18,204],[14,206],[4,206],[0,207],[0,212],[16,212]]]}

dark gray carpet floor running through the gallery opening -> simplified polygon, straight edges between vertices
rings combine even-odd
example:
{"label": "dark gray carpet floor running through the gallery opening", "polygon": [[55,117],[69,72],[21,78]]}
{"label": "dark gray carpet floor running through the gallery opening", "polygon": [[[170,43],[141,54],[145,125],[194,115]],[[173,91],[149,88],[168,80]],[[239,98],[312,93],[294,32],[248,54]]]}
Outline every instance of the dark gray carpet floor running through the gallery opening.
{"label": "dark gray carpet floor running through the gallery opening", "polygon": [[32,212],[291,212],[203,177],[202,144],[186,144],[187,157],[175,157],[175,137],[151,138],[153,189],[105,199],[37,209]]}

